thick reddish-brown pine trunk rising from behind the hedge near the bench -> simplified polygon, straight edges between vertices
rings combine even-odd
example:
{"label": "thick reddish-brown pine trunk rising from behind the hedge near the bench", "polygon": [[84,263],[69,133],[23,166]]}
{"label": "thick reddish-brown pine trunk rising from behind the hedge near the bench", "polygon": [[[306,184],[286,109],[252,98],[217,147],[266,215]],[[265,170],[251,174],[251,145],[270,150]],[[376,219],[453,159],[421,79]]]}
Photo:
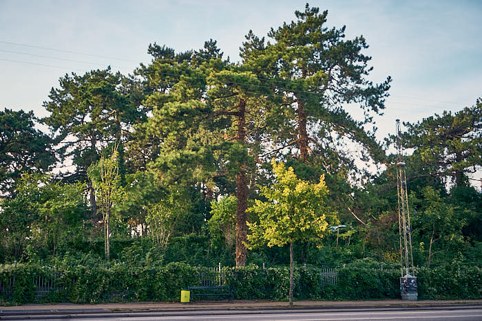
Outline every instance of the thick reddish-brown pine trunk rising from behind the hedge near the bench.
{"label": "thick reddish-brown pine trunk rising from behind the hedge near the bench", "polygon": [[[246,100],[240,99],[238,104],[238,137],[237,141],[244,144],[246,138]],[[247,214],[248,207],[248,182],[247,182],[247,164],[244,163],[240,167],[240,172],[235,175],[236,178],[236,197],[238,199],[238,206],[236,207],[236,266],[244,267],[246,265],[247,248],[244,243],[247,241]]]}

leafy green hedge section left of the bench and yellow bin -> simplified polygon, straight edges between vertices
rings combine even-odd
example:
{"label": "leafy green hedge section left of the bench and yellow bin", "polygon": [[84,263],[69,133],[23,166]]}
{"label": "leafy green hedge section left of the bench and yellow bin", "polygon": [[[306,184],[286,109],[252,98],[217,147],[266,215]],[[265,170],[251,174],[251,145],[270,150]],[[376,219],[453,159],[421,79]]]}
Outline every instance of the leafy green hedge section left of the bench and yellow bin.
{"label": "leafy green hedge section left of the bench and yellow bin", "polygon": [[[129,269],[125,265],[113,267],[72,267],[56,270],[31,265],[0,266],[0,283],[8,285],[14,278],[13,293],[0,295],[0,302],[109,302],[109,301],[174,301],[179,290],[198,282],[198,268],[183,263],[164,267]],[[55,280],[56,291],[36,298],[39,280]],[[1,284],[0,284],[1,287]],[[5,286],[3,286],[5,288]],[[51,283],[52,287],[52,283]],[[118,298],[109,292],[121,293]]]}

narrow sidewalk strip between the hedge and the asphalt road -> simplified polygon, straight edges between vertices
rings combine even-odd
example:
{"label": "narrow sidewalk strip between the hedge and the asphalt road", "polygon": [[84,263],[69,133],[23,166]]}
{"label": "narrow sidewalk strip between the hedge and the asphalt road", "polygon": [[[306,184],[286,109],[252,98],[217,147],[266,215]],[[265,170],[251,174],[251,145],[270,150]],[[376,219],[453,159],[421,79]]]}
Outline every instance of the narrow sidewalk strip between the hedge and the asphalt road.
{"label": "narrow sidewalk strip between the hedge and the asphalt road", "polygon": [[[383,309],[383,308],[430,308],[446,306],[482,306],[482,300],[377,300],[377,301],[296,301],[295,309]],[[191,303],[178,302],[137,302],[137,303],[105,303],[96,305],[76,305],[59,303],[54,305],[19,305],[0,307],[0,316],[17,313],[122,313],[122,312],[154,312],[154,311],[196,311],[196,310],[270,310],[287,309],[288,302],[233,300],[198,301]]]}

